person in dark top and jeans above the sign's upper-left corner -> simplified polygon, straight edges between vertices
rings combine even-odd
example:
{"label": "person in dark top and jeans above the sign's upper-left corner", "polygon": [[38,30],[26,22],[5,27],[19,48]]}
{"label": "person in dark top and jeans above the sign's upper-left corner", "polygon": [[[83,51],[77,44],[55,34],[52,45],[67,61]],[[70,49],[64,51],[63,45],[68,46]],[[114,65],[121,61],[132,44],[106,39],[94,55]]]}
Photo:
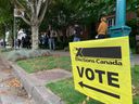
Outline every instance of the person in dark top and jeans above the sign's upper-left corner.
{"label": "person in dark top and jeans above the sign's upper-left corner", "polygon": [[74,40],[73,41],[80,41],[81,34],[83,34],[81,28],[76,24],[74,28]]}

